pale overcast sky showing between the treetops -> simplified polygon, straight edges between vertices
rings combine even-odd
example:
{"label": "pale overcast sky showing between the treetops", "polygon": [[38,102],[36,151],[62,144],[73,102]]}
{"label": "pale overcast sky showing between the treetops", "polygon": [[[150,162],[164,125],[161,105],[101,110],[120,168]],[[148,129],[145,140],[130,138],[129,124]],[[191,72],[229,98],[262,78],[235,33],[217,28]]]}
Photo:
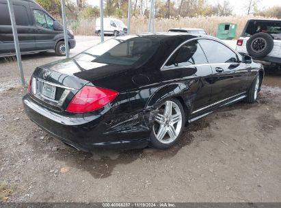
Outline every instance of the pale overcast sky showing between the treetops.
{"label": "pale overcast sky showing between the treetops", "polygon": [[[163,0],[165,1],[165,0]],[[176,0],[176,1],[180,1],[180,0]],[[217,4],[217,2],[224,2],[224,0],[208,0],[209,3],[215,5]],[[97,5],[99,6],[99,2],[100,0],[88,0],[88,3],[92,4],[92,5]],[[247,4],[247,0],[230,0],[230,5],[232,5],[233,8],[233,13],[234,14],[246,14],[246,9],[245,9],[245,5]],[[264,9],[264,8],[269,8],[273,5],[280,5],[281,6],[281,0],[258,0],[258,8],[260,10]]]}

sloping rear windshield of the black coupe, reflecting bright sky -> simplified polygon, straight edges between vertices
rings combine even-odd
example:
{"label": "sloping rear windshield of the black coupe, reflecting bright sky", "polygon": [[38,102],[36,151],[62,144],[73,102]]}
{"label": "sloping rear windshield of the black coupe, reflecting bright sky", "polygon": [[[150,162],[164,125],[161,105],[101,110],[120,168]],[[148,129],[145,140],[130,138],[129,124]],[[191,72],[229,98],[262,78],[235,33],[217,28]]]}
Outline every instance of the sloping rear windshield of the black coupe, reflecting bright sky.
{"label": "sloping rear windshield of the black coupe, reflecting bright sky", "polygon": [[91,62],[130,66],[144,64],[159,47],[159,40],[156,38],[135,37],[126,39],[125,37],[111,38],[83,51],[76,58],[83,60],[83,56],[87,56],[87,60]]}

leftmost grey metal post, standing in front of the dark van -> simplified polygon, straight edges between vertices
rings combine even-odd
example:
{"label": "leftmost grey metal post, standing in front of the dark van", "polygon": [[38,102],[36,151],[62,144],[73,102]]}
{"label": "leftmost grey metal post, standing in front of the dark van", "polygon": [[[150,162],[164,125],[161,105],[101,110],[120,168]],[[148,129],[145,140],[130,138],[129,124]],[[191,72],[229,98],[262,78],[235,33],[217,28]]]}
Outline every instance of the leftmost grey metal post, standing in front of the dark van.
{"label": "leftmost grey metal post, standing in front of the dark van", "polygon": [[7,2],[8,2],[12,31],[14,36],[14,48],[16,49],[16,60],[18,62],[18,70],[20,71],[21,74],[21,84],[23,85],[23,87],[25,87],[25,75],[23,74],[23,64],[21,62],[21,49],[18,43],[18,31],[16,30],[16,18],[14,18],[14,8],[11,0],[7,0]]}

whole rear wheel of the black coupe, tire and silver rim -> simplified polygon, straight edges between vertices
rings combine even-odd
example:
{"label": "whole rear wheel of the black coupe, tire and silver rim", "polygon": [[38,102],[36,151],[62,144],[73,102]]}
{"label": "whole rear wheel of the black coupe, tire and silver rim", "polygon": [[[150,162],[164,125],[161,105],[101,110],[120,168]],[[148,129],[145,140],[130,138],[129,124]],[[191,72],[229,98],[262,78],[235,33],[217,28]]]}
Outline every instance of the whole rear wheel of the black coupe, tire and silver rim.
{"label": "whole rear wheel of the black coupe, tire and silver rim", "polygon": [[185,127],[185,111],[177,99],[167,99],[160,105],[150,133],[150,146],[170,148],[180,139]]}

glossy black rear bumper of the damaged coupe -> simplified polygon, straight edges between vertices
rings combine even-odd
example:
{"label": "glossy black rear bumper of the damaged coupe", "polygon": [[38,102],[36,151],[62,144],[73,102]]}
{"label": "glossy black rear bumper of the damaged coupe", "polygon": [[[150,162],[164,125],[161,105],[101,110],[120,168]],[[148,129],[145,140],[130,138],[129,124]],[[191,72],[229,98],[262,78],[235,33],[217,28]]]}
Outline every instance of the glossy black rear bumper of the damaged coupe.
{"label": "glossy black rear bumper of the damaged coupe", "polygon": [[27,116],[44,131],[65,144],[81,151],[92,151],[94,148],[144,148],[148,145],[149,131],[112,132],[107,127],[105,115],[67,117],[38,105],[27,94],[23,97]]}

